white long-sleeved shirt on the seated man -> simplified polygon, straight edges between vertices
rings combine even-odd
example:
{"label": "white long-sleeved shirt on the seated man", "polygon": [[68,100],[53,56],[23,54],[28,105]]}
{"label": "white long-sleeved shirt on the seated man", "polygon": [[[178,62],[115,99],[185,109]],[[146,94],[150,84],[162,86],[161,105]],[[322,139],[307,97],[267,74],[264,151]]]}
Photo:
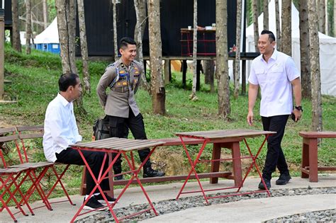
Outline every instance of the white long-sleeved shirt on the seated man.
{"label": "white long-sleeved shirt on the seated man", "polygon": [[43,150],[47,161],[55,162],[56,153],[70,144],[82,141],[74,118],[74,105],[60,93],[47,105],[43,135]]}

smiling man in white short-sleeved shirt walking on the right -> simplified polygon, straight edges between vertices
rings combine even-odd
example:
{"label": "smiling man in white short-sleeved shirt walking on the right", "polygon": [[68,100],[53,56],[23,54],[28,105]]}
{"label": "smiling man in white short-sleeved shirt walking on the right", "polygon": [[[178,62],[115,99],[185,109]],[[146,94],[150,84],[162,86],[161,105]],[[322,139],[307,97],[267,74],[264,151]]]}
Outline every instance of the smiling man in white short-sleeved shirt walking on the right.
{"label": "smiling man in white short-sleeved shirt walking on the right", "polygon": [[[281,149],[281,140],[289,115],[293,113],[294,120],[297,122],[303,111],[300,73],[296,69],[293,59],[278,52],[275,45],[274,34],[269,30],[263,30],[258,41],[261,55],[253,60],[249,77],[247,122],[249,125],[253,123],[253,108],[260,86],[262,125],[264,130],[276,132],[275,135],[271,135],[267,139],[267,156],[262,170],[262,178],[264,178],[267,188],[271,188],[271,173],[275,171],[276,167],[280,172],[276,185],[285,185],[291,180],[284,152]],[[294,108],[293,96],[295,98]],[[265,189],[262,182],[258,187],[262,190]]]}

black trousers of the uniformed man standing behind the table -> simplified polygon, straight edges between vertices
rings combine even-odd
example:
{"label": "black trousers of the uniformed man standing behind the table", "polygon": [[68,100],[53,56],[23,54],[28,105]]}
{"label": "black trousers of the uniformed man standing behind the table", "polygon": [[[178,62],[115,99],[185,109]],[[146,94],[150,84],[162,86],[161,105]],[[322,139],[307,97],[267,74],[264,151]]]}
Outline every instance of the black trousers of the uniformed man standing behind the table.
{"label": "black trousers of the uniformed man standing behind the table", "polygon": [[[145,132],[145,124],[143,122],[143,118],[141,113],[139,115],[135,116],[133,114],[132,109],[130,109],[130,113],[128,115],[128,118],[122,118],[117,116],[110,116],[108,115],[109,121],[110,121],[110,137],[118,137],[118,138],[127,138],[127,134],[125,134],[125,130],[127,128],[130,129],[130,132],[132,132],[132,135],[135,139],[147,139],[146,132]],[[144,161],[148,154],[150,154],[150,149],[141,149],[138,150],[138,154],[141,161]],[[112,158],[116,154],[112,154]],[[116,163],[113,166],[113,169],[116,170],[116,168],[121,168],[121,156],[118,157]],[[144,167],[150,167],[150,159],[146,162]]]}

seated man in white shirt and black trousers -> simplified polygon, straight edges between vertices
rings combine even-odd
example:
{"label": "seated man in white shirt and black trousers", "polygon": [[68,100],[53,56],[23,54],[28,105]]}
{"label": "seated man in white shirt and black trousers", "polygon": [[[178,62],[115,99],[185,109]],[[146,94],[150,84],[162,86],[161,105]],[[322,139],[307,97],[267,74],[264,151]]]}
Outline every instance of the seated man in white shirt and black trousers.
{"label": "seated man in white shirt and black trousers", "polygon": [[[74,118],[73,101],[79,98],[82,91],[82,84],[77,74],[62,74],[58,80],[60,93],[47,106],[45,112],[45,124],[43,135],[43,150],[47,161],[58,162],[62,164],[85,165],[79,152],[69,147],[70,144],[75,144],[82,141],[82,136],[79,135],[76,119]],[[103,152],[99,151],[82,151],[86,161],[89,163],[94,176],[98,178],[101,164],[103,162]],[[108,167],[106,162],[105,169]],[[93,178],[89,171],[86,171],[86,196],[87,198],[94,186]],[[108,180],[103,180],[101,183],[102,190],[109,190]],[[116,199],[106,198],[108,202],[114,202]],[[103,210],[101,202],[103,197],[96,189],[84,209]]]}

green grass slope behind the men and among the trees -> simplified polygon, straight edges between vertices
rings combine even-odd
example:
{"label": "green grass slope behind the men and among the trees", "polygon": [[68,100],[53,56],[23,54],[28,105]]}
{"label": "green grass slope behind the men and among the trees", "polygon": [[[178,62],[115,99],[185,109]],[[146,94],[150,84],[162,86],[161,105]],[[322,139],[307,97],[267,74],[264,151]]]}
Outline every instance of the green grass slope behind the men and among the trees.
{"label": "green grass slope behind the men and among the trees", "polygon": [[[96,84],[108,63],[90,62],[91,94],[84,96],[84,108],[87,115],[79,117],[77,121],[79,131],[84,141],[91,140],[92,125],[94,120],[103,116],[103,110],[99,105],[96,96]],[[77,62],[79,73],[82,65]],[[31,55],[18,54],[11,47],[6,45],[5,53],[5,79],[12,81],[12,84],[5,86],[6,97],[14,98],[18,103],[0,104],[0,127],[9,125],[43,125],[45,109],[47,104],[55,98],[58,92],[57,80],[62,73],[60,57],[50,53],[32,51]],[[187,74],[187,84],[191,86],[192,74]],[[190,101],[191,91],[179,88],[181,86],[181,73],[174,72],[172,84],[166,86],[166,110],[167,115],[155,115],[152,113],[152,99],[146,91],[140,89],[136,95],[145,121],[147,137],[162,138],[174,137],[174,132],[196,131],[196,130],[220,130],[247,128],[262,130],[262,123],[259,117],[259,101],[254,109],[254,126],[250,127],[246,122],[247,96],[240,96],[237,100],[231,98],[230,121],[219,118],[218,97],[216,93],[209,93],[210,87],[203,83],[201,76],[201,91],[197,92],[198,101]],[[232,89],[231,89],[232,91]],[[323,97],[323,130],[336,130],[336,98]],[[302,139],[298,132],[310,130],[311,125],[311,103],[303,100],[303,118],[300,122],[289,120],[282,142],[282,147],[289,162],[291,173],[298,176],[298,168],[301,164]],[[262,137],[248,139],[252,151],[256,151],[262,142]],[[247,154],[244,144],[241,144],[242,153]],[[192,156],[196,156],[198,147],[190,147]],[[223,149],[223,151],[225,151]],[[263,165],[266,149],[262,150],[258,164]],[[137,156],[138,157],[138,156]],[[175,157],[173,160],[172,157]],[[211,146],[206,147],[201,159],[211,157]],[[42,150],[33,156],[34,159],[43,159]],[[170,173],[186,173],[187,159],[182,147],[159,148],[153,156],[155,166]],[[323,139],[319,149],[319,161],[321,164],[336,166],[335,139]],[[125,163],[125,162],[124,162]],[[209,166],[197,166],[198,171],[208,171]],[[230,166],[223,164],[221,168]],[[255,174],[255,173],[254,173]],[[79,192],[82,168],[72,166],[67,173],[65,183],[71,193]]]}

